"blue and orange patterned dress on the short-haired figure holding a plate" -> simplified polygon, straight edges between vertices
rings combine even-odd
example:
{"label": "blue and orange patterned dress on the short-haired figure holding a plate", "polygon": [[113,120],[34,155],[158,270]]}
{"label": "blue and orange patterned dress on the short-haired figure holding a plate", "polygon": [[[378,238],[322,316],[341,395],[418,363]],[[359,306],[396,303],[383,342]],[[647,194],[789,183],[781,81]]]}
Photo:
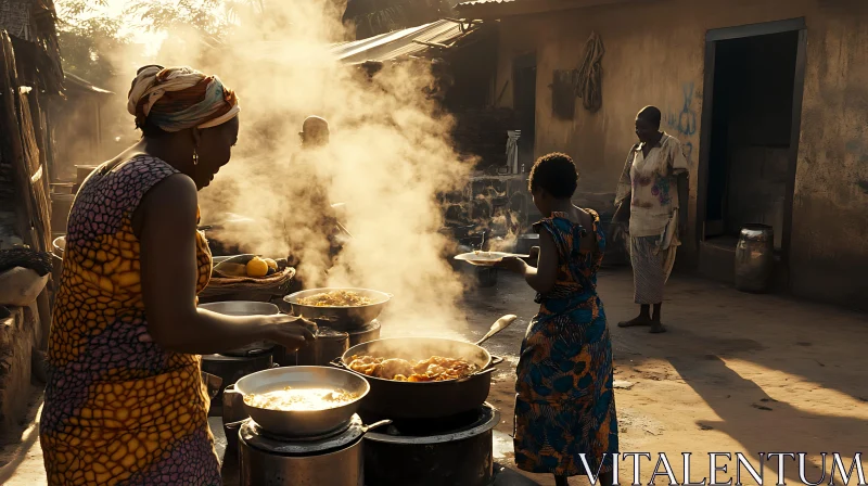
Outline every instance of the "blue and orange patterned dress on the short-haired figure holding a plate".
{"label": "blue and orange patterned dress on the short-haired figure holding a plate", "polygon": [[[554,287],[537,295],[539,314],[522,342],[515,381],[515,463],[532,473],[576,476],[612,471],[618,451],[612,389],[612,343],[597,295],[597,270],[605,252],[600,217],[592,232],[553,213],[535,226],[558,248]],[[580,250],[583,238],[597,250]]]}

